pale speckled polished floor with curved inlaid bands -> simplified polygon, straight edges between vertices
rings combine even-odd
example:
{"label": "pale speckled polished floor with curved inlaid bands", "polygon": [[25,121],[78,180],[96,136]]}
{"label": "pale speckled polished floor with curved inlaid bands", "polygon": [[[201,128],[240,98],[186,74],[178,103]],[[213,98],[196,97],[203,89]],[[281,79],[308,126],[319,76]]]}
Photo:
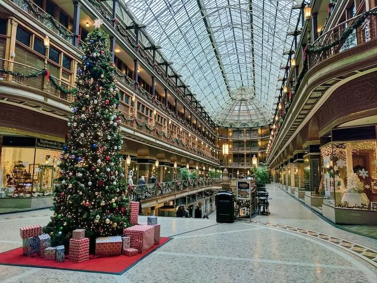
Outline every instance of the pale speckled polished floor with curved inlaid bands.
{"label": "pale speckled polished floor with curved inlaid bands", "polygon": [[[333,227],[275,186],[268,191],[271,214],[252,223],[220,224],[215,214],[159,217],[161,236],[173,239],[122,275],[0,265],[0,282],[377,282],[377,268],[355,252],[358,245],[376,250],[377,240]],[[0,252],[21,246],[19,227],[45,225],[51,215],[49,210],[1,215]],[[356,248],[351,252],[302,231]]]}

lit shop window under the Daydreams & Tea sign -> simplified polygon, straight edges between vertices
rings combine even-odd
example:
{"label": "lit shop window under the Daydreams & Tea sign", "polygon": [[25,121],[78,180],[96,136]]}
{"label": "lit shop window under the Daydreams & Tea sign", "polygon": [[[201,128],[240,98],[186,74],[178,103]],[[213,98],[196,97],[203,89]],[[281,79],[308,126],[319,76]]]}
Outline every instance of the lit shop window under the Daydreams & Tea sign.
{"label": "lit shop window under the Daydreams & Tea sign", "polygon": [[3,147],[0,162],[2,197],[29,198],[52,195],[59,177],[60,151]]}

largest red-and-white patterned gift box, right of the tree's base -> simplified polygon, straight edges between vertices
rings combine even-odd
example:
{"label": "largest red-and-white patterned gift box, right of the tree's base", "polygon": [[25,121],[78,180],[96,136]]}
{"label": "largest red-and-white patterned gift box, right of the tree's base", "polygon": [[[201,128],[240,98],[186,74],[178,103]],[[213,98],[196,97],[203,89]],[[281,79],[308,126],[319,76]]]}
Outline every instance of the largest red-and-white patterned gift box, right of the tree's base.
{"label": "largest red-and-white patterned gift box, right of the tree's base", "polygon": [[139,253],[146,252],[154,245],[154,227],[152,225],[135,225],[123,230],[123,236],[131,237],[131,248]]}

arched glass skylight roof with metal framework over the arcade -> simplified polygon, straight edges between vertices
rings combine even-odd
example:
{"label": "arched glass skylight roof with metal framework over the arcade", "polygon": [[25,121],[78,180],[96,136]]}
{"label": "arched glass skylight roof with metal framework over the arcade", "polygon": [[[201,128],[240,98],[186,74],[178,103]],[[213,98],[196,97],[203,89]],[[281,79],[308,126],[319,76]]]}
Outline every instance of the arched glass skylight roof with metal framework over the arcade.
{"label": "arched glass skylight roof with metal framework over the arcade", "polygon": [[[125,0],[213,121],[271,122],[299,11],[290,0]],[[281,86],[281,85],[280,85]]]}

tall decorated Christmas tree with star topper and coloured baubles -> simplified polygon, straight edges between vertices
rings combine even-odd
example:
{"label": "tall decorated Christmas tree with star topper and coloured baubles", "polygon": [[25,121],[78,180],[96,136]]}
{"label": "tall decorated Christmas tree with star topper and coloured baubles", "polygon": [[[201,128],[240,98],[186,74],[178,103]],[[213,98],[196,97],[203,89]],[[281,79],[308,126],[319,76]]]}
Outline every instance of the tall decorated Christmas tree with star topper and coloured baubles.
{"label": "tall decorated Christmas tree with star topper and coloured baubles", "polygon": [[44,228],[52,245],[67,245],[78,228],[85,229],[93,243],[96,237],[121,235],[130,226],[115,64],[107,36],[95,26],[86,38],[87,48],[77,70],[73,114],[54,196],[55,213]]}

